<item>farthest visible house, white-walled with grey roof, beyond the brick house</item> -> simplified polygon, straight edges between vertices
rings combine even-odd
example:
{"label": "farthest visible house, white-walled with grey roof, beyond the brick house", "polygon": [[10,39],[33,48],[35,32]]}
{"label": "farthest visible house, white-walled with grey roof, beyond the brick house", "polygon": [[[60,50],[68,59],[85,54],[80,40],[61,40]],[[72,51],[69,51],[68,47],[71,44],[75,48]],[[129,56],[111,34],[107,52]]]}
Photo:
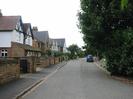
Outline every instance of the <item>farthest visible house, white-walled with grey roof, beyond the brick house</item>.
{"label": "farthest visible house, white-walled with grey roof, beyond the brick house", "polygon": [[66,50],[65,38],[52,39],[52,41],[53,41],[52,48],[55,48],[56,45],[58,52],[66,53],[67,50]]}

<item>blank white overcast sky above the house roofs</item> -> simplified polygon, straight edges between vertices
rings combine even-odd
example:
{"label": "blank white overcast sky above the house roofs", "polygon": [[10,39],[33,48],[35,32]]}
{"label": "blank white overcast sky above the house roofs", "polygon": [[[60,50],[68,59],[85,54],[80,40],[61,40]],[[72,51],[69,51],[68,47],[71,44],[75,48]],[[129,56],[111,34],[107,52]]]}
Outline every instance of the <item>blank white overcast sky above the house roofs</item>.
{"label": "blank white overcast sky above the house roofs", "polygon": [[84,45],[77,28],[80,0],[0,0],[3,15],[20,15],[24,23],[48,31],[50,38],[65,38],[67,47]]}

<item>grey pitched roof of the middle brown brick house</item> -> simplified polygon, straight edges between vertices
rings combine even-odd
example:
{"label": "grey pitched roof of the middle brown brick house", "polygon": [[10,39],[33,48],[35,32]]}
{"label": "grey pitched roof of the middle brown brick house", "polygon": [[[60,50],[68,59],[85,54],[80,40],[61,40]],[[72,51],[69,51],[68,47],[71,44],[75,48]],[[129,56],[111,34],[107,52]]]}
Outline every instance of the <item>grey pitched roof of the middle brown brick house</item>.
{"label": "grey pitched roof of the middle brown brick house", "polygon": [[43,43],[49,41],[48,31],[33,31],[33,35],[37,40],[42,41]]}

